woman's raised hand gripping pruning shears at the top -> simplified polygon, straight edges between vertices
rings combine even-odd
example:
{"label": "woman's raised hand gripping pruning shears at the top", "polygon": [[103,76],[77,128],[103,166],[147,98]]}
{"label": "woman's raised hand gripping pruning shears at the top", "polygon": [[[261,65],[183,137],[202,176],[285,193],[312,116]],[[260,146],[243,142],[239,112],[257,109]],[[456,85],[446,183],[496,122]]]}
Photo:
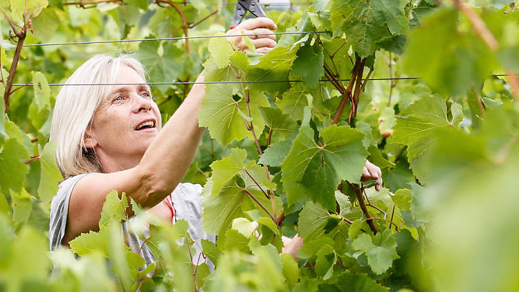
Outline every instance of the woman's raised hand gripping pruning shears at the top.
{"label": "woman's raised hand gripping pruning shears at the top", "polygon": [[[274,21],[266,17],[257,17],[247,19],[235,28],[228,30],[226,35],[251,35],[248,36],[251,42],[256,47],[257,53],[268,53],[277,44],[275,42],[275,35],[265,35],[272,33],[275,30]],[[243,32],[243,33],[242,33]],[[227,37],[229,42],[233,42],[241,51],[248,51],[248,47],[244,42],[243,37]]]}

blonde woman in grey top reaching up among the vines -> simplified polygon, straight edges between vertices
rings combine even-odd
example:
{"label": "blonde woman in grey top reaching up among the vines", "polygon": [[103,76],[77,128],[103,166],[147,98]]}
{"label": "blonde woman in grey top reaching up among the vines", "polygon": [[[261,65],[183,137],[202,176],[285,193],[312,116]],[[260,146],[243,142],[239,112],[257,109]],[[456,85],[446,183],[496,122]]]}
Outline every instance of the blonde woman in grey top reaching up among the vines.
{"label": "blonde woman in grey top reaching up among the vines", "polygon": [[[276,45],[275,37],[261,34],[275,28],[271,19],[256,18],[228,34],[255,33],[251,42],[257,52],[268,53]],[[242,37],[230,40],[245,48]],[[200,75],[197,82],[202,81]],[[143,84],[144,68],[131,57],[92,57],[67,83],[139,85],[64,86],[57,96],[51,140],[57,143],[57,165],[66,180],[51,204],[51,249],[68,244],[82,232],[98,230],[102,205],[111,190],[126,192],[167,221],[173,217],[187,219],[188,232],[195,241],[214,241],[213,235],[201,230],[201,186],[179,184],[204,131],[197,116],[205,86],[194,84],[162,127],[157,104],[149,87]],[[378,167],[368,168],[366,176],[380,179]],[[128,243],[138,250],[142,241],[130,233]],[[295,237],[286,241],[285,250],[295,255],[301,244],[302,239]],[[195,247],[199,252],[199,246]],[[140,250],[140,255],[147,264],[154,261],[147,247]]]}

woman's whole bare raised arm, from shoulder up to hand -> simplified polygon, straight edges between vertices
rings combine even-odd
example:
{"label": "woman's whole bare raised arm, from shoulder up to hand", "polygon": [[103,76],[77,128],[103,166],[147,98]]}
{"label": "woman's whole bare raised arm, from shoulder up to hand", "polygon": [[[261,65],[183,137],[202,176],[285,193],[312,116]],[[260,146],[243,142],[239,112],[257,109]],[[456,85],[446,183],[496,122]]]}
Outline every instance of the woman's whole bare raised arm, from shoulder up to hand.
{"label": "woman's whole bare raised arm, from shoulder up to hand", "polygon": [[[275,24],[270,19],[251,19],[230,30],[228,34],[239,34],[242,30],[267,33],[267,28],[275,29]],[[241,37],[229,39],[244,49]],[[254,37],[253,43],[264,53],[275,46],[272,36],[259,35]],[[197,82],[203,82],[203,75],[198,77]],[[199,127],[197,116],[205,94],[204,84],[194,84],[187,98],[163,126],[136,166],[120,171],[109,169],[108,173],[91,173],[78,181],[69,201],[63,244],[68,244],[82,232],[98,230],[102,204],[111,190],[126,192],[143,207],[151,208],[176,188],[192,163],[203,135],[204,128]],[[139,95],[136,96],[137,103],[142,103],[135,105],[137,110],[140,111],[141,107],[145,109],[148,106],[147,101],[139,100]],[[121,167],[125,168],[127,167]]]}

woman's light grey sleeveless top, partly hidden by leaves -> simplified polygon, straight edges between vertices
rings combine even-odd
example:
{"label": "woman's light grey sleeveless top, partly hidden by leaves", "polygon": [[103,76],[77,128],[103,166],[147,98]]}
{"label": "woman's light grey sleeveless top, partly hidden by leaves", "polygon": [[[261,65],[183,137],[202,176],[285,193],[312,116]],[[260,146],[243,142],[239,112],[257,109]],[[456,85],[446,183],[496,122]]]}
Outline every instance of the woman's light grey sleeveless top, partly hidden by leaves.
{"label": "woman's light grey sleeveless top, partly hidden by leaves", "polygon": [[[66,219],[69,215],[69,200],[71,198],[72,190],[76,183],[87,174],[79,174],[71,176],[60,183],[60,188],[57,194],[51,201],[51,221],[49,223],[48,239],[51,250],[55,250],[61,245],[61,241],[65,235]],[[215,235],[210,235],[202,230],[202,187],[201,185],[194,185],[192,183],[179,183],[171,194],[173,206],[175,208],[174,220],[185,219],[189,223],[188,232],[191,238],[195,241],[194,248],[196,256],[193,256],[193,264],[197,264],[199,253],[202,248],[201,239],[208,239],[216,242]],[[128,232],[127,222],[122,223],[123,234],[128,234],[128,246],[137,253],[140,249],[139,255],[146,261],[146,266],[155,262],[155,257],[152,251],[146,244],[143,245],[143,240],[134,232]],[[127,233],[128,232],[128,233]],[[146,233],[146,232],[145,232]],[[149,232],[148,232],[149,233]],[[143,246],[143,248],[140,248]],[[212,271],[215,267],[209,259],[207,264]]]}

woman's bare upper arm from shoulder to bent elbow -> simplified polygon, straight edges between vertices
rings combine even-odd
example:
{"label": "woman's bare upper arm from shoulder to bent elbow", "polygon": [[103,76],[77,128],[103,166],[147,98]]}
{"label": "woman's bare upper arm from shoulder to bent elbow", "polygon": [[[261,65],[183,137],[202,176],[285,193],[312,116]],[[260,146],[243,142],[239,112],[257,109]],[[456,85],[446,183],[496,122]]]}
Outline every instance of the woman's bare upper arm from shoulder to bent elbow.
{"label": "woman's bare upper arm from shoulder to bent elbow", "polygon": [[102,205],[107,194],[116,190],[125,192],[144,207],[152,207],[162,201],[167,194],[154,188],[152,176],[139,172],[138,167],[109,174],[91,173],[83,176],[75,184],[69,201],[69,214],[63,244],[89,230],[98,230]]}

